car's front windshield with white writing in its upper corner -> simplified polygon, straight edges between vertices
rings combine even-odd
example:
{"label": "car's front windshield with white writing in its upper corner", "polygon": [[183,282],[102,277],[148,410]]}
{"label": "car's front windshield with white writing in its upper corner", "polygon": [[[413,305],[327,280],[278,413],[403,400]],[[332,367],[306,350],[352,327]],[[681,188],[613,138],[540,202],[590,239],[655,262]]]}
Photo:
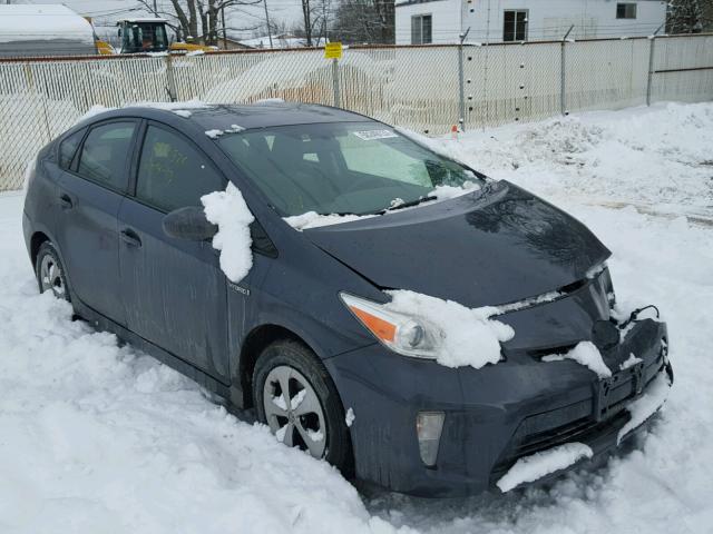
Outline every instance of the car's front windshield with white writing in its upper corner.
{"label": "car's front windshield with white writing in its upper corner", "polygon": [[373,122],[247,130],[219,144],[282,216],[374,214],[428,201],[438,186],[480,182],[465,167]]}

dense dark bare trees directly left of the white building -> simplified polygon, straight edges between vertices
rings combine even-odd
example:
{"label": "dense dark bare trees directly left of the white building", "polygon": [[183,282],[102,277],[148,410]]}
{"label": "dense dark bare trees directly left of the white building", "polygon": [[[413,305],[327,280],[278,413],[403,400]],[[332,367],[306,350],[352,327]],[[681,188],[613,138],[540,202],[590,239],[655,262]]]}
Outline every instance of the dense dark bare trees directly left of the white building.
{"label": "dense dark bare trees directly left of the white building", "polygon": [[333,33],[350,43],[393,43],[393,0],[342,0]]}

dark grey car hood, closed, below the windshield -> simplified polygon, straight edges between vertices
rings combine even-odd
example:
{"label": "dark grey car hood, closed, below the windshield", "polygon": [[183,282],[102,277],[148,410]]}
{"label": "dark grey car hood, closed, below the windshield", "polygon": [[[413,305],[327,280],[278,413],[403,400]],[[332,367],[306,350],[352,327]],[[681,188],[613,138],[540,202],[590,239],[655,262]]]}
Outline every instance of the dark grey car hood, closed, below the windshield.
{"label": "dark grey car hood, closed, below the windshield", "polygon": [[611,255],[582,222],[507,181],[304,234],[380,288],[469,307],[560,289]]}

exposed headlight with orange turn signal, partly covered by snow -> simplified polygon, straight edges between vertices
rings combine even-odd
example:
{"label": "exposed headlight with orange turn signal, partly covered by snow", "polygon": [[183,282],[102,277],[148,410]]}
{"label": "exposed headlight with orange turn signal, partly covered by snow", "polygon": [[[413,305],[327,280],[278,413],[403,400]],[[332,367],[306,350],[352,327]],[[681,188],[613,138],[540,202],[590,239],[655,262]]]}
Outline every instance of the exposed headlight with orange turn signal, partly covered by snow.
{"label": "exposed headlight with orange turn signal, partly covered by snow", "polygon": [[434,325],[348,293],[340,293],[340,297],[382,345],[404,356],[436,359],[443,333]]}

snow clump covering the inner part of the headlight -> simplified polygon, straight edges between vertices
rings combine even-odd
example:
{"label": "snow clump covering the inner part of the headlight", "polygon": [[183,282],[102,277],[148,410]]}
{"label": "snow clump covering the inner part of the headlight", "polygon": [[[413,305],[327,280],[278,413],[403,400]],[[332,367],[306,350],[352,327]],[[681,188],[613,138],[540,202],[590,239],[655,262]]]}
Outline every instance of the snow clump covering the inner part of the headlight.
{"label": "snow clump covering the inner part of the headlight", "polygon": [[414,315],[440,332],[437,358],[446,367],[471,366],[476,369],[501,359],[500,343],[512,339],[515,330],[490,317],[495,307],[467,308],[453,300],[408,290],[385,291],[387,309]]}

